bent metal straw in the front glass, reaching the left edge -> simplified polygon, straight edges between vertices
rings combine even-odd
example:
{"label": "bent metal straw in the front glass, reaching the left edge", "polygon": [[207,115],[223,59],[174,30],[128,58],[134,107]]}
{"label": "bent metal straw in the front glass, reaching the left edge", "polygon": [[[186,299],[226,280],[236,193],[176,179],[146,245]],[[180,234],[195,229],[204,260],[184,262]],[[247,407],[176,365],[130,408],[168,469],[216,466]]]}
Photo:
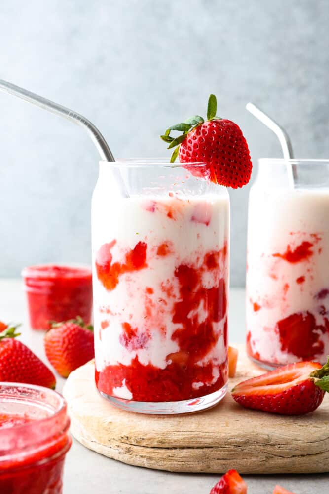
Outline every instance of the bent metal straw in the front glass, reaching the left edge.
{"label": "bent metal straw in the front glass, reaching the left edge", "polygon": [[[89,137],[95,144],[101,159],[110,162],[115,161],[111,153],[111,150],[108,146],[108,143],[106,142],[106,140],[104,139],[103,135],[98,130],[98,128],[95,127],[94,124],[92,124],[88,119],[86,119],[79,113],[76,113],[73,110],[66,108],[65,106],[59,105],[58,103],[54,103],[49,99],[43,98],[38,94],[34,94],[30,91],[27,91],[22,87],[18,87],[14,84],[11,84],[11,82],[3,81],[2,79],[0,79],[0,90],[8,94],[12,94],[13,96],[17,96],[18,98],[24,99],[29,103],[33,103],[34,105],[42,108],[43,110],[48,110],[49,112],[55,113],[60,117],[64,117],[70,120],[71,122],[74,122],[74,124],[80,125],[88,132]],[[121,195],[123,197],[129,197],[128,191],[121,177],[120,170],[113,167],[112,172],[114,179],[116,180],[117,185],[120,189]]]}

